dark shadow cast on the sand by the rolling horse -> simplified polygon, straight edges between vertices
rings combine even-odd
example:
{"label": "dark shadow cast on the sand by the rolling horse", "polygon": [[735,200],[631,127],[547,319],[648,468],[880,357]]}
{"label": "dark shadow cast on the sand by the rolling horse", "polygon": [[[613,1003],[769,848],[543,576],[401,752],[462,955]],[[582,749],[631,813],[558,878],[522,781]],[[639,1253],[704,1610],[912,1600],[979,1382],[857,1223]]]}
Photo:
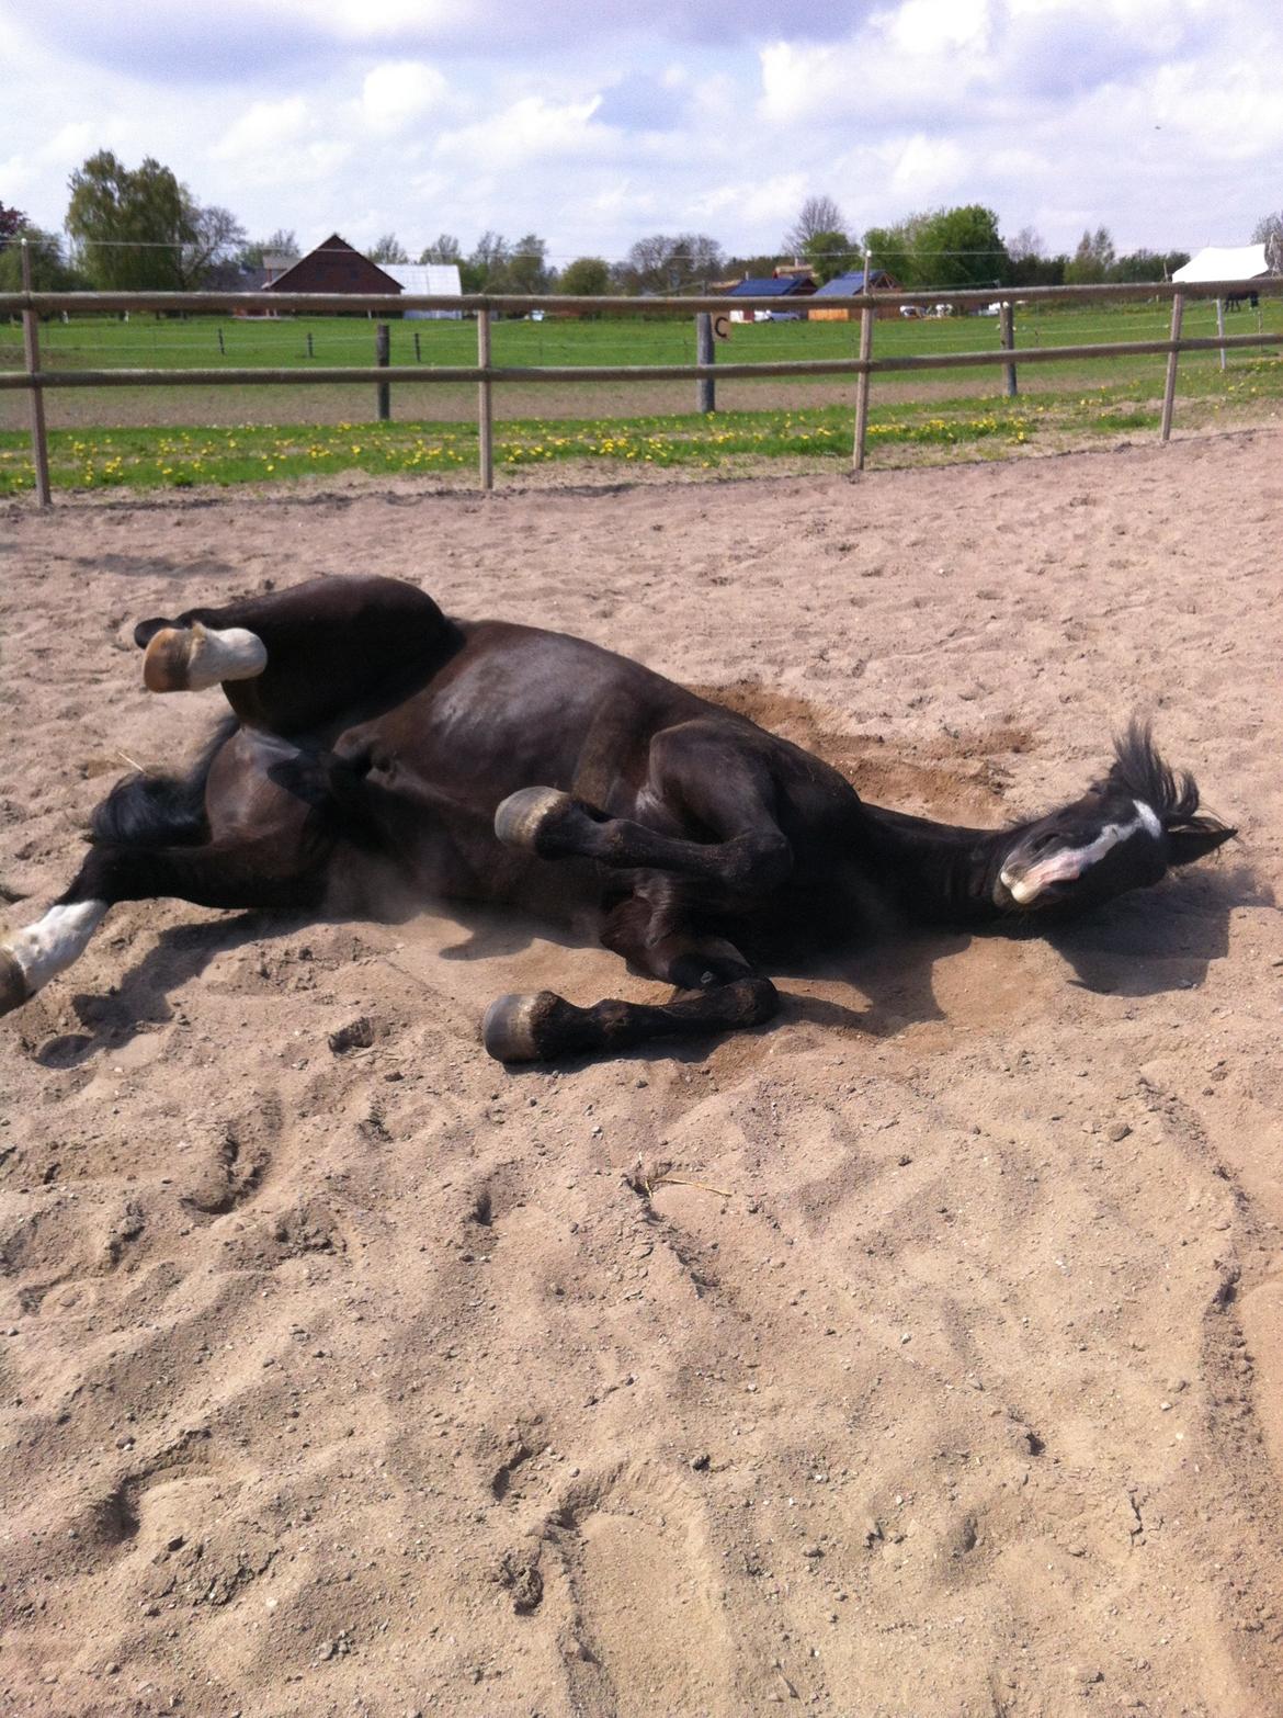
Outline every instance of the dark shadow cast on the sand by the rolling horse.
{"label": "dark shadow cast on the sand by the rolling horse", "polygon": [[[1163,991],[1194,990],[1204,983],[1211,962],[1228,952],[1230,916],[1242,905],[1274,905],[1274,897],[1240,864],[1173,878],[1152,892],[1110,902],[1089,919],[1048,926],[1031,919],[1020,921],[1018,928],[996,928],[981,935],[1043,935],[1072,967],[1072,984],[1104,995],[1156,996]],[[385,923],[409,923],[410,917],[407,911],[390,914]],[[459,902],[450,904],[450,921],[465,935],[462,941],[438,947],[440,957],[447,960],[502,960],[527,950],[534,941],[582,948],[594,940],[579,928]],[[88,1031],[50,1039],[40,1048],[38,1060],[46,1067],[65,1069],[100,1050],[120,1048],[137,1033],[168,1024],[173,1019],[170,993],[199,978],[216,955],[252,941],[294,936],[314,923],[306,914],[254,911],[170,926],[110,993],[79,993],[72,998],[76,1015]],[[333,914],[326,923],[350,923],[350,917]],[[945,1020],[948,1015],[936,996],[934,967],[938,960],[965,952],[972,935],[879,924],[866,926],[862,935],[843,940],[838,947],[800,953],[754,950],[761,955],[763,971],[773,979],[785,984],[788,979],[842,983],[857,995],[857,1002],[848,1005],[830,996],[785,991],[776,1020],[754,1033],[794,1020],[859,1033],[862,1038],[890,1038],[909,1026]],[[550,988],[555,988],[555,972],[548,978]],[[496,988],[502,988],[502,981]],[[720,1041],[721,1034],[699,1041],[658,1041],[627,1051],[625,1058],[701,1062]]]}

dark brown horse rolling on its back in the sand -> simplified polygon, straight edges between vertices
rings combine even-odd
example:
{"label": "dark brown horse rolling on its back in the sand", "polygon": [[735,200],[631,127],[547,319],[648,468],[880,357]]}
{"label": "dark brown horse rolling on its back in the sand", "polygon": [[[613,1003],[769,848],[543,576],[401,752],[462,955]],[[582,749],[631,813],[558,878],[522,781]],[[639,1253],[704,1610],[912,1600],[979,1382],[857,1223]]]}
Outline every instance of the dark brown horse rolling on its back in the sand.
{"label": "dark brown horse rolling on its back in the sand", "polygon": [[1135,723],[1108,773],[1034,823],[970,830],[864,804],[828,765],[639,663],[462,622],[395,579],[319,579],[136,629],[156,692],[220,684],[232,716],[185,777],[132,775],[76,881],[0,945],[0,1012],[119,900],[373,911],[414,899],[593,909],[677,988],[579,1008],[502,996],[503,1062],[756,1026],[776,990],[739,945],[835,940],[871,897],[910,921],[1061,917],[1233,835]]}

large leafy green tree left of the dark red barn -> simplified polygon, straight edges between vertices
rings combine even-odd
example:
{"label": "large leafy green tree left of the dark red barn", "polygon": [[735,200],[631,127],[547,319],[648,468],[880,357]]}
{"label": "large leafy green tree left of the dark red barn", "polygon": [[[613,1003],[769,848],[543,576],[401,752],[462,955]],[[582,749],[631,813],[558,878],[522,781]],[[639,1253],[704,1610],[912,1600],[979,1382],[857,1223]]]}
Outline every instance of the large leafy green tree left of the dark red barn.
{"label": "large leafy green tree left of the dark red barn", "polygon": [[153,156],[131,170],[100,149],[70,175],[67,232],[106,292],[179,292],[184,247],[198,239],[194,215],[189,192]]}

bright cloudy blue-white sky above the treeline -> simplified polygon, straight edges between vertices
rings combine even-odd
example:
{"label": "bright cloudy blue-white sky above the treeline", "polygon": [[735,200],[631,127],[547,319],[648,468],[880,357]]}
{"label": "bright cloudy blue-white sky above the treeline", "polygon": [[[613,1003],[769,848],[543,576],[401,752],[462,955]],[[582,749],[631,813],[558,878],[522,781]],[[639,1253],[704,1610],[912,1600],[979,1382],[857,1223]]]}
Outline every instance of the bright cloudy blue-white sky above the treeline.
{"label": "bright cloudy blue-white sky above the treeline", "polygon": [[783,249],[984,203],[1049,253],[1245,244],[1283,210],[1280,0],[0,0],[0,203],[58,228],[98,149],[251,237],[412,258],[534,232]]}

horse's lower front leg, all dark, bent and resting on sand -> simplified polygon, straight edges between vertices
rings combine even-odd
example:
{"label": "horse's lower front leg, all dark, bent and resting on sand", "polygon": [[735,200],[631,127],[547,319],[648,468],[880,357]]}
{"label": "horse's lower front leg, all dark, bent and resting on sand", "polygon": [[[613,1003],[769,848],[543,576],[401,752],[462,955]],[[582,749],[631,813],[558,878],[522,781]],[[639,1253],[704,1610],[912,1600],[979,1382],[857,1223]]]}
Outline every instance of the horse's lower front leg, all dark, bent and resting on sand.
{"label": "horse's lower front leg, all dark, bent and resting on sand", "polygon": [[606,948],[654,978],[692,995],[666,1003],[598,1002],[577,1008],[551,990],[500,996],[486,1010],[481,1039],[500,1062],[551,1062],[558,1057],[632,1050],[656,1038],[702,1038],[769,1020],[780,996],[733,943],[701,936],[685,924],[680,892],[639,892],[608,914]]}

